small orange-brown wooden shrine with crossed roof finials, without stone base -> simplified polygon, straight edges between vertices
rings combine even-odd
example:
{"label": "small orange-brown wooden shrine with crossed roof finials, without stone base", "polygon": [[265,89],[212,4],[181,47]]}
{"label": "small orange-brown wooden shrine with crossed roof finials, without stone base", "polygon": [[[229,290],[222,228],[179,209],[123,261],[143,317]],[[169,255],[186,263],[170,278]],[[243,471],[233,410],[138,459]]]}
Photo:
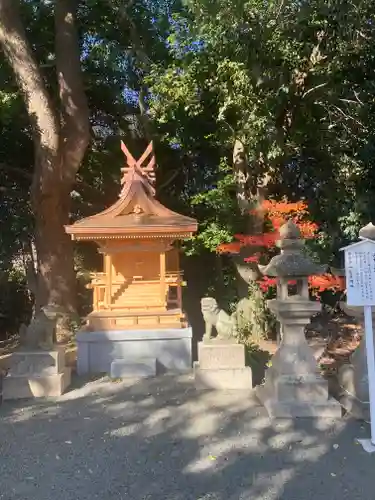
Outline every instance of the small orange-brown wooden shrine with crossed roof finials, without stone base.
{"label": "small orange-brown wooden shrine with crossed roof finials, without stone base", "polygon": [[103,254],[103,272],[93,273],[89,285],[93,311],[87,329],[184,328],[183,277],[173,244],[190,237],[197,222],[155,199],[152,142],[138,161],[122,142],[121,149],[127,164],[119,199],[65,227],[72,239],[94,241]]}

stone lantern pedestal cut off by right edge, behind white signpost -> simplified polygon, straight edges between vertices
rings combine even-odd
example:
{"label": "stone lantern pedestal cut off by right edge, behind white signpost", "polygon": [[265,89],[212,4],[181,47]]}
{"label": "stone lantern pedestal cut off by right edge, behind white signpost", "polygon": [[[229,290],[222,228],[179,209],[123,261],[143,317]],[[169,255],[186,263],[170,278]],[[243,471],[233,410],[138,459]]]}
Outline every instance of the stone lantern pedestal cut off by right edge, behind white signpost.
{"label": "stone lantern pedestal cut off by right edge, behind white signpost", "polygon": [[[364,330],[363,307],[348,306],[344,302],[340,305],[346,314],[356,318]],[[375,324],[374,308],[372,309],[372,321],[373,324]],[[364,333],[361,343],[350,357],[350,364],[340,367],[338,380],[340,384],[339,399],[345,410],[356,418],[369,420],[370,403],[366,359],[366,338]]]}

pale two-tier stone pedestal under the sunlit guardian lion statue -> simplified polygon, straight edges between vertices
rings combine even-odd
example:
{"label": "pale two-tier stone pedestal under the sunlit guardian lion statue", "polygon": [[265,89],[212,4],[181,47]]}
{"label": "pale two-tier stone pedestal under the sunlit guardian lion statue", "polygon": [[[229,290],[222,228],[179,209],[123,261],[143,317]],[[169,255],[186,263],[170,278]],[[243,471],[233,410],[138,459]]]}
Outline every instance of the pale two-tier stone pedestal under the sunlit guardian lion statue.
{"label": "pale two-tier stone pedestal under the sunlit guardian lion statue", "polygon": [[197,389],[251,390],[251,368],[245,366],[245,346],[234,340],[199,342],[194,377]]}

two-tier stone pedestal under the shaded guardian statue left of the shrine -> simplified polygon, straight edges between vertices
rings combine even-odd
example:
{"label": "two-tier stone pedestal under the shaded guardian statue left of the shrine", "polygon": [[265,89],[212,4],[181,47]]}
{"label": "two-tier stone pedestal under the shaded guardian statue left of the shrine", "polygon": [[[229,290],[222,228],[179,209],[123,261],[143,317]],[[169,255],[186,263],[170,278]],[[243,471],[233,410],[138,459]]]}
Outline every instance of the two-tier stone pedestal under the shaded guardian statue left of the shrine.
{"label": "two-tier stone pedestal under the shaded guardian statue left of the shrine", "polygon": [[3,380],[3,399],[61,396],[70,385],[65,348],[52,351],[16,351]]}

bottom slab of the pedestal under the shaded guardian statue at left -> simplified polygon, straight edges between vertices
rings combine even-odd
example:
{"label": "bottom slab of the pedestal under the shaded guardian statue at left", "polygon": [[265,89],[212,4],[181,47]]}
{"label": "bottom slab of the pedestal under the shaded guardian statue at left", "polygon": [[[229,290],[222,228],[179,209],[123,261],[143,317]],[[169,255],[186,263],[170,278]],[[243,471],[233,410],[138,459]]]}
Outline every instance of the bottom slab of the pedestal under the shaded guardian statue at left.
{"label": "bottom slab of the pedestal under the shaded guardian statue at left", "polygon": [[70,385],[70,368],[53,375],[11,375],[3,380],[3,399],[61,396]]}

